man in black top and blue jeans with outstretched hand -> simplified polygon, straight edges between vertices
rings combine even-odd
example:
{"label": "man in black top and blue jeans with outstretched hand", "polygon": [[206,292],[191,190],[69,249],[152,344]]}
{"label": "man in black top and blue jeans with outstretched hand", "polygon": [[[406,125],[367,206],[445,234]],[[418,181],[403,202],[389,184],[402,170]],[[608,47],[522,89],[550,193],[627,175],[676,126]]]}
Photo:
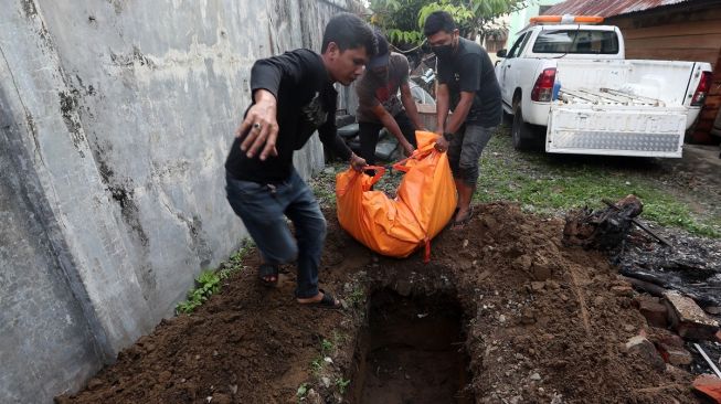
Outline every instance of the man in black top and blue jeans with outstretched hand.
{"label": "man in black top and blue jeans with outstretched hand", "polygon": [[[253,103],[225,162],[227,200],[261,252],[258,275],[264,285],[277,283],[278,265],[297,261],[299,304],[340,307],[318,288],[326,220],[293,167],[293,152],[317,129],[324,145],[354,169],[365,167],[336,132],[333,83],[352,83],[375,50],[371,28],[357,15],[341,13],[326,25],[322,54],[286,52],[255,62],[251,71]],[[286,216],[294,223],[295,237]]]}

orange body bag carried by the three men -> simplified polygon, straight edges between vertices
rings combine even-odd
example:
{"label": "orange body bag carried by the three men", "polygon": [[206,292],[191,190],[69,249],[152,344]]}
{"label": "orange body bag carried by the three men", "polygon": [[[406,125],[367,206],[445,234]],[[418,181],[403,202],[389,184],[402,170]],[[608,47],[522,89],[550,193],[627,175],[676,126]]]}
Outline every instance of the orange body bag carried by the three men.
{"label": "orange body bag carried by the three men", "polygon": [[418,149],[393,166],[404,171],[395,199],[371,187],[385,173],[370,177],[353,169],[336,176],[338,221],[356,240],[382,255],[406,257],[425,246],[448,223],[456,209],[456,187],[448,157],[435,150],[438,135],[416,131]]}

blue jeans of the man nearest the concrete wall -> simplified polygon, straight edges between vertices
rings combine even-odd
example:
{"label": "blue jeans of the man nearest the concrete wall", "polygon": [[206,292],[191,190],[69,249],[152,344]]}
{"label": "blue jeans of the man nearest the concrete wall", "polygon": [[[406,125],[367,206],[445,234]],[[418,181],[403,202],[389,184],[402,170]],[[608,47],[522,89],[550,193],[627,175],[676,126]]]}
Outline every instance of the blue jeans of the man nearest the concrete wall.
{"label": "blue jeans of the man nearest the concrete wall", "polygon": [[[293,170],[282,183],[263,184],[225,174],[227,201],[267,264],[297,261],[296,297],[318,295],[318,266],[326,241],[326,217],[310,188]],[[293,222],[295,237],[285,216]]]}

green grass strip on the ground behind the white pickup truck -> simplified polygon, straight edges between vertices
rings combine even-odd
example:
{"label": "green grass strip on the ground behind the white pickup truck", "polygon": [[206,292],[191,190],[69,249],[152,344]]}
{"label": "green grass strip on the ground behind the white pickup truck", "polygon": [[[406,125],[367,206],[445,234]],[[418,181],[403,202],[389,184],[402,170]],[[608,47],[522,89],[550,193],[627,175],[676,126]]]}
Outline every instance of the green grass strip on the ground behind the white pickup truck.
{"label": "green grass strip on the ground behind the white pickup truck", "polygon": [[518,152],[507,130],[501,127],[484,151],[477,202],[512,201],[526,211],[553,215],[584,205],[603,208],[602,199],[616,201],[633,193],[644,202],[643,219],[721,237],[721,219],[695,216],[688,201],[664,189],[639,167],[642,160]]}

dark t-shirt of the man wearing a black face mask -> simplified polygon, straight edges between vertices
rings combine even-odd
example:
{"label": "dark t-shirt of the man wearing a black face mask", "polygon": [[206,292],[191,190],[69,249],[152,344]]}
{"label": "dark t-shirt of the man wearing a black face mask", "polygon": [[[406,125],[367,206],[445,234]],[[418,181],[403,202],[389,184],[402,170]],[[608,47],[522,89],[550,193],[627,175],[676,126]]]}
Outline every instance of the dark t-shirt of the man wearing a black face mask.
{"label": "dark t-shirt of the man wearing a black face mask", "polygon": [[460,100],[460,92],[476,93],[467,124],[490,128],[500,124],[500,86],[488,53],[477,43],[459,39],[458,50],[450,59],[438,59],[438,83],[450,93],[450,108]]}

